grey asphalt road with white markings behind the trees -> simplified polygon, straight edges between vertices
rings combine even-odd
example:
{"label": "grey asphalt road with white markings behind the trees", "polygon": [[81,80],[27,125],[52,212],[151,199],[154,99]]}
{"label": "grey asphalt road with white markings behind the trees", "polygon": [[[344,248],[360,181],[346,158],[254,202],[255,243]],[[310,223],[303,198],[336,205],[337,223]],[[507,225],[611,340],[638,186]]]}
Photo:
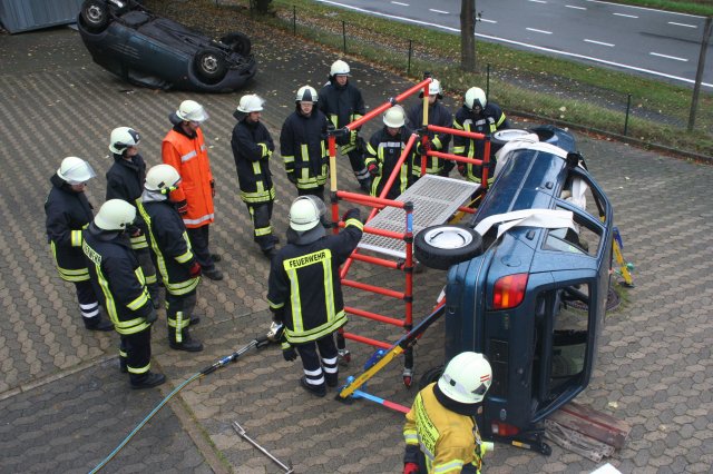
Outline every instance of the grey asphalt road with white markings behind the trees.
{"label": "grey asphalt road with white markings behind the trees", "polygon": [[[460,32],[460,1],[316,0],[398,21]],[[479,0],[476,36],[517,49],[641,73],[675,83],[695,82],[703,17],[597,0]],[[704,87],[713,89],[713,47]]]}

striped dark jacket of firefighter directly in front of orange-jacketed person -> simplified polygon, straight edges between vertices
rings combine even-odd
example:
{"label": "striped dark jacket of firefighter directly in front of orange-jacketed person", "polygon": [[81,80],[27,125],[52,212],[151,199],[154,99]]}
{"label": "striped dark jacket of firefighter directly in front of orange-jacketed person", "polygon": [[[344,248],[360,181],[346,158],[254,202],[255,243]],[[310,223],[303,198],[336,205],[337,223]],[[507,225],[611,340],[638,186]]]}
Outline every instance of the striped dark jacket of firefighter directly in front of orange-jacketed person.
{"label": "striped dark jacket of firefighter directly in front of orange-jacketed person", "polygon": [[196,289],[201,277],[191,276],[195,258],[186,226],[175,206],[168,200],[139,203],[138,210],[146,221],[148,240],[166,290],[185,295]]}

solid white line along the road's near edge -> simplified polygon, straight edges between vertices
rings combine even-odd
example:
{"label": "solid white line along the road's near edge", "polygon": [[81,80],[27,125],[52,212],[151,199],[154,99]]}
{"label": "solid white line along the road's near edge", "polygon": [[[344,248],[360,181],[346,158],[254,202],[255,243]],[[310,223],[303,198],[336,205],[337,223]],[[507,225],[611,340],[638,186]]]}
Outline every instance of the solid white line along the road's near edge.
{"label": "solid white line along the road's near edge", "polygon": [[[412,18],[399,17],[399,16],[395,16],[395,14],[380,13],[378,11],[371,11],[371,10],[367,10],[365,8],[353,7],[351,4],[340,3],[340,2],[333,1],[333,0],[316,0],[316,1],[319,1],[320,3],[328,3],[328,4],[333,4],[335,7],[345,8],[348,10],[361,11],[362,13],[373,14],[374,17],[390,18],[392,20],[403,21],[404,23],[421,24],[421,26],[424,26],[424,27],[438,28],[438,29],[443,30],[443,31],[450,31],[450,32],[453,32],[453,33],[460,33],[460,29],[452,28],[452,27],[447,27],[445,24],[432,23],[432,22],[429,22],[429,21],[414,20]],[[586,1],[596,1],[597,3],[606,3],[606,2],[598,1],[598,0],[586,0]],[[656,77],[678,80],[681,82],[695,83],[695,80],[683,78],[681,76],[667,75],[665,72],[654,71],[653,69],[637,68],[636,66],[625,65],[623,62],[608,61],[606,59],[595,58],[593,56],[586,56],[586,55],[578,55],[576,52],[560,51],[560,50],[557,50],[557,49],[545,48],[545,47],[537,46],[537,45],[531,45],[531,43],[528,43],[528,42],[515,41],[515,40],[510,40],[510,39],[507,39],[507,38],[500,38],[500,37],[494,37],[491,34],[476,33],[476,38],[482,38],[482,39],[487,39],[487,40],[496,41],[496,42],[504,42],[504,43],[507,43],[507,45],[521,46],[521,47],[525,47],[525,48],[534,49],[536,51],[549,52],[549,53],[555,55],[555,56],[566,56],[568,58],[586,59],[588,61],[598,62],[600,65],[613,66],[613,67],[616,67],[616,68],[627,69],[627,70],[631,70],[631,71],[644,72],[644,73],[656,76]],[[713,88],[713,82],[701,82],[701,85],[703,87]]]}

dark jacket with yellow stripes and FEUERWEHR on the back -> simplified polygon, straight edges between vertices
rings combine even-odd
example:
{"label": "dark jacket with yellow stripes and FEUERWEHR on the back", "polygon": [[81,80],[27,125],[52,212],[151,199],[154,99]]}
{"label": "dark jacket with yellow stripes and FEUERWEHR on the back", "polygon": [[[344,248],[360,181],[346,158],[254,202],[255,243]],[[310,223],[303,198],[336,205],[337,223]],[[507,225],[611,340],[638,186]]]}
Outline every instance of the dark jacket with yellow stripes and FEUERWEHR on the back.
{"label": "dark jacket with yellow stripes and FEUERWEHR on the back", "polygon": [[272,259],[267,303],[283,314],[290,344],[316,340],[346,323],[339,267],[356,248],[363,225],[346,220],[339,235],[287,244]]}

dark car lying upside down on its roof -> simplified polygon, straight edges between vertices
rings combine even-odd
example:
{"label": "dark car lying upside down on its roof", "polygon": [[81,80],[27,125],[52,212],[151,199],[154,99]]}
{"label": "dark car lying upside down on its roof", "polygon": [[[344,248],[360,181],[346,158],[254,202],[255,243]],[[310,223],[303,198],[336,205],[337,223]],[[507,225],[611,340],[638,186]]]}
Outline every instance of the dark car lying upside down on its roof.
{"label": "dark car lying upside down on its roof", "polygon": [[231,92],[257,70],[247,36],[216,41],[135,0],[85,0],[77,26],[94,61],[134,85]]}

